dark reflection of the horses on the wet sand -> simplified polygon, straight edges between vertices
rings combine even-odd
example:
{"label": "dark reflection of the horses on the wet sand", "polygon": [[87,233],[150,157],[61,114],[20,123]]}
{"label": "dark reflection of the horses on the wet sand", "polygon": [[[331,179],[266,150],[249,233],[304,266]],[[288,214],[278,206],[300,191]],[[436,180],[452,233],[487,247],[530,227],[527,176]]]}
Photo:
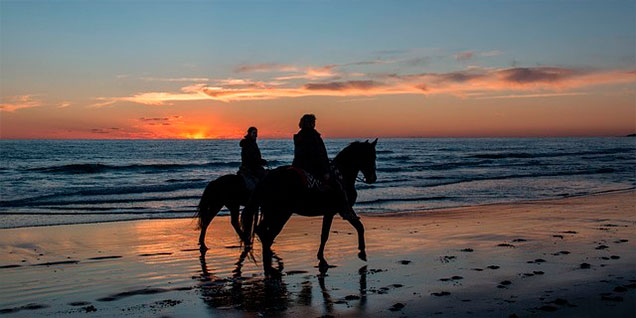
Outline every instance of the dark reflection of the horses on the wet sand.
{"label": "dark reflection of the horses on the wet sand", "polygon": [[[248,254],[248,249],[243,250],[240,254],[231,277],[220,278],[210,272],[206,262],[206,253],[201,253],[199,257],[201,275],[194,278],[199,280],[198,289],[201,292],[201,298],[208,306],[215,309],[234,309],[245,312],[259,312],[266,315],[276,315],[295,306],[312,306],[314,295],[309,277],[306,277],[307,279],[300,284],[300,291],[297,293],[288,290],[283,275],[243,277],[243,263]],[[284,268],[283,260],[276,256],[275,253],[273,253],[272,258],[276,261],[276,269],[282,273]],[[358,308],[362,312],[367,302],[367,267],[363,266],[358,272],[360,274],[360,295],[356,299],[358,299]],[[343,299],[336,301],[332,299],[325,281],[328,277],[326,270],[321,270],[314,277],[318,278],[326,314],[334,313],[334,304],[347,303]]]}

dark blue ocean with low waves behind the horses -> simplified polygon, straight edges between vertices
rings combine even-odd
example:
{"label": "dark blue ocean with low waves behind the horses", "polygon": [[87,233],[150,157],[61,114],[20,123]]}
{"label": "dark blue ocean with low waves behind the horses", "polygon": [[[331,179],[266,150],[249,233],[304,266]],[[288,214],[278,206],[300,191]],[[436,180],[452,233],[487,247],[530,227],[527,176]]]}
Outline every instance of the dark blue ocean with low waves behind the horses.
{"label": "dark blue ocean with low waves behind the horses", "polygon": [[[329,157],[352,141],[325,140]],[[238,142],[0,140],[0,228],[192,217],[206,184],[236,173]],[[291,140],[258,142],[271,168],[291,164]],[[358,213],[632,189],[636,138],[380,139],[377,176],[357,184]]]}

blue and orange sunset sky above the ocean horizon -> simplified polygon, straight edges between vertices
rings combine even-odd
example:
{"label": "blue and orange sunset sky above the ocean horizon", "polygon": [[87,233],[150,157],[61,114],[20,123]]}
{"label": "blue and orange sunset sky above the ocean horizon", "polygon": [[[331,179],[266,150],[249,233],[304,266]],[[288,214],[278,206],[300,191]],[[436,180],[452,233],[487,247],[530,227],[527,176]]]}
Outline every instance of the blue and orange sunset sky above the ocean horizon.
{"label": "blue and orange sunset sky above the ocean horizon", "polygon": [[0,0],[0,138],[619,136],[636,2]]}

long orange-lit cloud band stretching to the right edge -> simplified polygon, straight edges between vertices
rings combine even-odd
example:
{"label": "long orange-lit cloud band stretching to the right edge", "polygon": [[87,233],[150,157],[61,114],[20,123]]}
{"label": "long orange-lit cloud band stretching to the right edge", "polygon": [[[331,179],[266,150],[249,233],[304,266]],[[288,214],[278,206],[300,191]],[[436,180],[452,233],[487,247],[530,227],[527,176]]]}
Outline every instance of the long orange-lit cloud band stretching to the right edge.
{"label": "long orange-lit cloud band stretching to the right edge", "polygon": [[[447,94],[476,98],[505,93],[508,98],[566,96],[567,90],[594,85],[635,83],[634,70],[583,70],[561,67],[469,67],[446,73],[376,74],[361,80],[318,80],[306,83],[255,85],[227,80],[218,85],[193,84],[181,92],[140,92],[127,97],[100,97],[102,104],[120,101],[166,105],[187,101],[246,101],[305,96],[378,96],[387,94]],[[263,82],[265,83],[265,82]],[[579,93],[577,93],[579,94]],[[519,96],[519,97],[515,97]],[[504,98],[492,96],[492,98]]]}

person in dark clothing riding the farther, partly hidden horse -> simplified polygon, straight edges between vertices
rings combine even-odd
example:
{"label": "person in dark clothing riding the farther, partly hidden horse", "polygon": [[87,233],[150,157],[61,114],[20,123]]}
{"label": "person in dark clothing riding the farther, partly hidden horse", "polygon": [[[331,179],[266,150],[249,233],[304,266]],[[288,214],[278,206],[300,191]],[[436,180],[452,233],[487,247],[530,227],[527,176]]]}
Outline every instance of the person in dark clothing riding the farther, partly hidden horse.
{"label": "person in dark clothing riding the farther, partly hidden horse", "polygon": [[265,176],[263,166],[267,164],[267,161],[261,157],[260,149],[258,149],[257,137],[258,129],[250,127],[247,129],[247,135],[239,143],[241,146],[241,167],[239,167],[238,174],[243,176],[245,185],[250,192]]}

